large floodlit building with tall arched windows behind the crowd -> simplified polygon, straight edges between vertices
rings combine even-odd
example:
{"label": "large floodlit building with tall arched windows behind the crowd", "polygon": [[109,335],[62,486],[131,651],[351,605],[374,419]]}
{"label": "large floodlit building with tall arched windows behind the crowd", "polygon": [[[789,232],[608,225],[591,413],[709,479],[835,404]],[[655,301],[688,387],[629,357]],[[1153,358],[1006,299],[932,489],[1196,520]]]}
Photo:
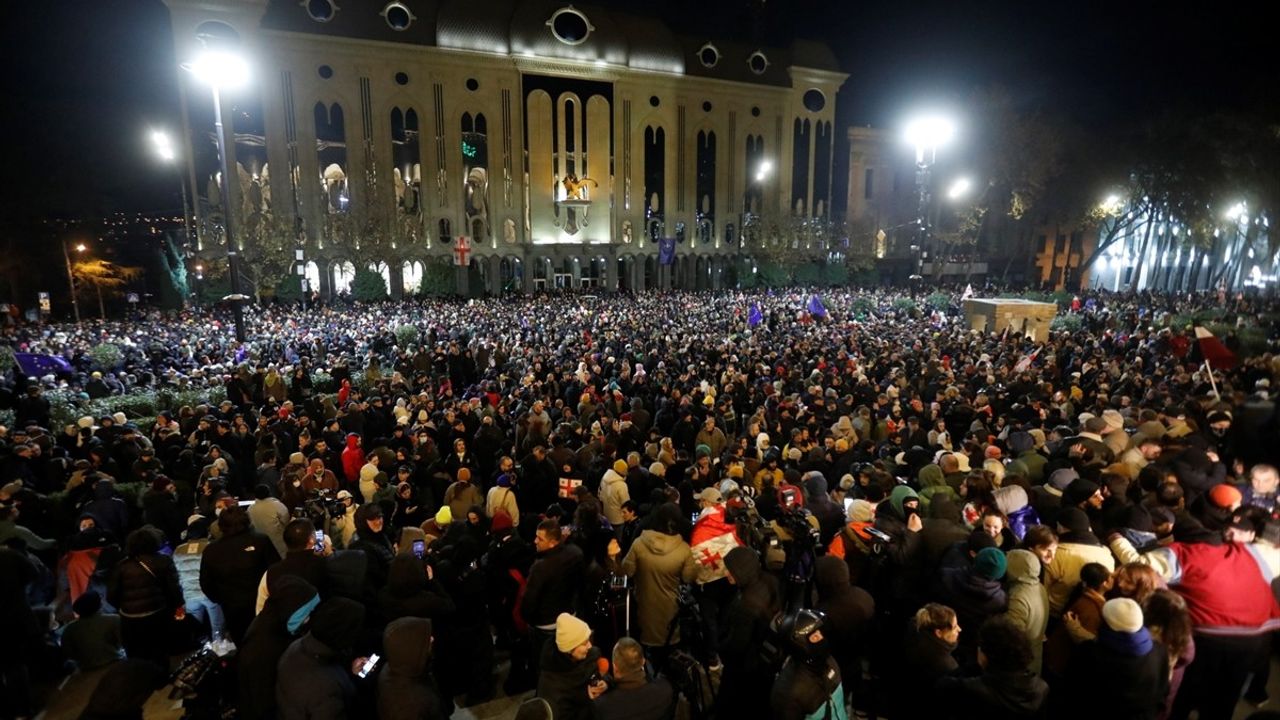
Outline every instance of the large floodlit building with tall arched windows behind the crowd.
{"label": "large floodlit building with tall arched windows behind the crowd", "polygon": [[[237,237],[287,228],[325,295],[357,264],[412,291],[463,236],[468,292],[723,287],[748,213],[831,208],[847,76],[820,44],[687,37],[553,0],[166,4],[179,60],[207,36],[253,68],[224,97]],[[210,94],[182,76],[212,252]],[[669,265],[659,238],[677,241]]]}

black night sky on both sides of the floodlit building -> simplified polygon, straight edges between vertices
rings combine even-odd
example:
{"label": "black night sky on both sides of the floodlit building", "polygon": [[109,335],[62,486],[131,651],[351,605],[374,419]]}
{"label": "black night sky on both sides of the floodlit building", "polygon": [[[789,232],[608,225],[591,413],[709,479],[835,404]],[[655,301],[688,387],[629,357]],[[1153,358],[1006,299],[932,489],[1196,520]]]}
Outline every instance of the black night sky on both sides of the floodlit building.
{"label": "black night sky on both sides of the floodlit building", "polygon": [[[375,4],[375,0],[346,0]],[[758,3],[758,0],[755,0]],[[1028,109],[1107,128],[1169,109],[1275,110],[1258,5],[957,0],[596,0],[659,14],[678,33],[827,41],[850,78],[841,124],[893,127],[911,108],[991,85]],[[178,72],[160,0],[5,4],[8,178],[0,217],[179,206],[148,154],[178,126]],[[842,137],[837,132],[837,137]],[[841,147],[837,146],[837,152]],[[837,191],[840,186],[837,186]]]}

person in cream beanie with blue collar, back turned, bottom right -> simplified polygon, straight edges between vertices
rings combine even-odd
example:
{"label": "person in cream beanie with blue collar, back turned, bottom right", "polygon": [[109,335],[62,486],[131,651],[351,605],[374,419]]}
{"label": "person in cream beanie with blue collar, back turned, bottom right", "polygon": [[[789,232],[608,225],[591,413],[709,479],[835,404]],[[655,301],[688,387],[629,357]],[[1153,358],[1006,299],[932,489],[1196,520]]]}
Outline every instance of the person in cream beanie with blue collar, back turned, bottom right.
{"label": "person in cream beanie with blue collar, back turned, bottom right", "polygon": [[1055,705],[1075,712],[1064,717],[1155,720],[1160,715],[1169,692],[1169,652],[1143,626],[1137,602],[1119,597],[1102,606],[1097,639],[1075,647],[1060,688],[1056,701],[1061,702]]}

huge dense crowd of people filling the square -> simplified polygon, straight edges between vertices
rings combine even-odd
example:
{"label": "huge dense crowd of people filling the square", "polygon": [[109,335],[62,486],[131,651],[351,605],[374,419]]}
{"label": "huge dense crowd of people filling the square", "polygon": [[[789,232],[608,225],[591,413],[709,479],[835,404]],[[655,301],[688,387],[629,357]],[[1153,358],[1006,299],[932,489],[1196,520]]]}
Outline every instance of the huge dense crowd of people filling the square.
{"label": "huge dense crowd of people filling the square", "polygon": [[[0,388],[0,717],[73,667],[101,675],[88,719],[166,683],[247,719],[1263,703],[1280,363],[1213,368],[1167,318],[1268,301],[1087,296],[1032,338],[899,299],[256,309],[244,343],[216,313],[6,327],[69,372]],[[211,400],[51,427],[46,393],[145,388]]]}

